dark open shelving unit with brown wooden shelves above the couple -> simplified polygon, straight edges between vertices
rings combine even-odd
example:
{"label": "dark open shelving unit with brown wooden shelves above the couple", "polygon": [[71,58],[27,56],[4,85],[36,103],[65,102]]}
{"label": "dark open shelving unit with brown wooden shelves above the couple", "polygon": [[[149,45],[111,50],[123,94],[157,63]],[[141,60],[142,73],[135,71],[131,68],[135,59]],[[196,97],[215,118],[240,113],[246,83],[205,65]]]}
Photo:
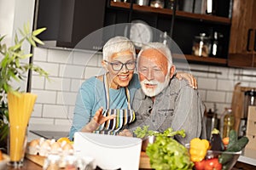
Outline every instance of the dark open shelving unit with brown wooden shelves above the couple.
{"label": "dark open shelving unit with brown wooden shelves above the couple", "polygon": [[[179,0],[177,0],[178,2]],[[181,1],[181,0],[180,0]],[[195,14],[177,8],[175,20],[172,26],[173,11],[169,8],[153,8],[150,6],[140,6],[136,3],[122,3],[109,1],[105,14],[105,26],[118,23],[125,23],[132,20],[143,20],[149,26],[167,31],[172,39],[181,48],[183,54],[190,63],[201,63],[210,65],[227,65],[230,42],[231,26],[231,6],[232,0],[222,0],[218,2],[217,14]],[[173,28],[172,28],[173,27]],[[219,39],[221,53],[215,57],[198,57],[192,54],[192,46],[195,36],[201,32],[212,35],[218,31],[223,37]],[[160,37],[154,37],[158,41]],[[181,59],[179,55],[174,55],[175,59]]]}

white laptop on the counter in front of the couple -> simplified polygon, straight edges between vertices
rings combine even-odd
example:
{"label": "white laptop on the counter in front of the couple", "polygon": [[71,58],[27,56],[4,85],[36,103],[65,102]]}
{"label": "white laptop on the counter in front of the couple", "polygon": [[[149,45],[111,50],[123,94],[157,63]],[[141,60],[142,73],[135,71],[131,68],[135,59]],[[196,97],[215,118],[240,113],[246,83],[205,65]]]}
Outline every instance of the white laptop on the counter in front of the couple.
{"label": "white laptop on the counter in front of the couple", "polygon": [[139,169],[142,139],[99,133],[74,133],[76,156],[90,156],[94,167],[106,170]]}

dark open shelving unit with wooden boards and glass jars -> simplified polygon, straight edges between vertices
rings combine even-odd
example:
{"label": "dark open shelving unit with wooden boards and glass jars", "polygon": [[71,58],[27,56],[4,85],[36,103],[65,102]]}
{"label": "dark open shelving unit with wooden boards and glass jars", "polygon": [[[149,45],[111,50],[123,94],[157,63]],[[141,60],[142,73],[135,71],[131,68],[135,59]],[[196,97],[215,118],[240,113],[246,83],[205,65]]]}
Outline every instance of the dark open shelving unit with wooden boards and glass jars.
{"label": "dark open shelving unit with wooden boards and glass jars", "polygon": [[[139,2],[109,1],[104,25],[143,20],[149,26],[166,31],[190,63],[227,65],[232,0],[212,0],[212,14],[207,14],[207,0],[177,0],[176,10],[168,6],[169,2],[174,1],[164,1],[164,8],[154,8],[150,2],[148,5],[139,5]],[[160,39],[159,35],[153,37],[153,41]],[[203,47],[201,40],[204,42]],[[212,50],[215,53],[212,54]],[[175,55],[174,58],[180,59]]]}

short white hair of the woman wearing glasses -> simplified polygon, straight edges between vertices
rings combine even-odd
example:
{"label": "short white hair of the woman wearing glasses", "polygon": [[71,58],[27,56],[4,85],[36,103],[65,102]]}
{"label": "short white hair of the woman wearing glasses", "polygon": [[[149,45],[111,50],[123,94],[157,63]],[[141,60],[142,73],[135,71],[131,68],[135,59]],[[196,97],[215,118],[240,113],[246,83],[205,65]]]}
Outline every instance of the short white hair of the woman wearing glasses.
{"label": "short white hair of the woman wearing glasses", "polygon": [[103,59],[108,60],[113,54],[120,53],[123,51],[131,51],[133,57],[136,58],[136,51],[134,44],[127,37],[113,37],[105,43],[102,53]]}

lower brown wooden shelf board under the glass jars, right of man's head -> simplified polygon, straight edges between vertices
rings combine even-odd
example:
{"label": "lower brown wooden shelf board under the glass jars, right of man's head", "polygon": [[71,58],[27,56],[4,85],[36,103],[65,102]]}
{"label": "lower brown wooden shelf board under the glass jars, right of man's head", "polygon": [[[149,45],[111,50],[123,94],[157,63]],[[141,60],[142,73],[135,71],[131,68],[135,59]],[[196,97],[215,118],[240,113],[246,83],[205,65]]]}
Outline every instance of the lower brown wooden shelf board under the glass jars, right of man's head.
{"label": "lower brown wooden shelf board under the glass jars, right of man's head", "polygon": [[196,61],[201,63],[207,63],[207,64],[215,64],[215,65],[227,65],[227,59],[220,59],[220,58],[213,58],[213,57],[199,57],[195,55],[189,55],[189,54],[173,54],[173,59],[184,59],[185,58],[188,61]]}

